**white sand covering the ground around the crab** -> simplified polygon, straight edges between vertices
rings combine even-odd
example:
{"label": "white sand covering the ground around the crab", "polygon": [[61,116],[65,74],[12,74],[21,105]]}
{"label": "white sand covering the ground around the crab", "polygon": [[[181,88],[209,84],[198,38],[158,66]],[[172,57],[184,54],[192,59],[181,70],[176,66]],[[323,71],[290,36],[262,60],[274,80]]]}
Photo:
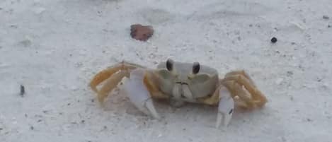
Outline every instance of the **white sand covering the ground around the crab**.
{"label": "white sand covering the ground around the crab", "polygon": [[[132,40],[134,23],[154,26],[154,36]],[[0,141],[331,142],[328,25],[331,0],[1,0]],[[88,81],[101,69],[167,58],[221,76],[246,69],[269,102],[235,112],[227,131],[214,128],[211,107],[156,103],[156,121],[117,91],[106,110],[91,102]]]}

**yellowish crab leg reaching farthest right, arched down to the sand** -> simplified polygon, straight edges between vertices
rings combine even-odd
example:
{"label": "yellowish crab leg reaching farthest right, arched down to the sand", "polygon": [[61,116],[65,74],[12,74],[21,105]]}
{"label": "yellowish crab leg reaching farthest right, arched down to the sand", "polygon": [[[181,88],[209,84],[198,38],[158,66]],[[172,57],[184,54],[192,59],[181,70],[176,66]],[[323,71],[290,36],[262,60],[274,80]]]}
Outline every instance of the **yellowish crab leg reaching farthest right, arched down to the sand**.
{"label": "yellowish crab leg reaching farthest right, arched down to the sand", "polygon": [[251,81],[248,81],[248,79],[242,75],[237,74],[234,76],[227,76],[223,79],[223,82],[227,81],[236,81],[237,83],[244,85],[244,88],[246,88],[246,90],[248,90],[251,94],[253,102],[255,102],[258,107],[262,107],[268,101],[263,93],[261,93],[258,88],[251,84]]}

